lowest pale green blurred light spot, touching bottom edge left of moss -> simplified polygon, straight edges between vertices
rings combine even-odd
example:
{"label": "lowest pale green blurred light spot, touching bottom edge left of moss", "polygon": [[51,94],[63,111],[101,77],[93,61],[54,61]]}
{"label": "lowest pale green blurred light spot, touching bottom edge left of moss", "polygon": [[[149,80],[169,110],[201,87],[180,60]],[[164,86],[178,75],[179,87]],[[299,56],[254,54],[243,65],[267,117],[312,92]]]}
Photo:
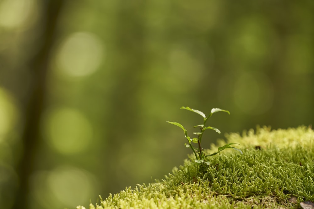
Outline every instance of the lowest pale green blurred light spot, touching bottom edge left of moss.
{"label": "lowest pale green blurred light spot, touching bottom edge left of moss", "polygon": [[38,170],[30,178],[31,208],[75,208],[97,195],[93,174],[70,165]]}

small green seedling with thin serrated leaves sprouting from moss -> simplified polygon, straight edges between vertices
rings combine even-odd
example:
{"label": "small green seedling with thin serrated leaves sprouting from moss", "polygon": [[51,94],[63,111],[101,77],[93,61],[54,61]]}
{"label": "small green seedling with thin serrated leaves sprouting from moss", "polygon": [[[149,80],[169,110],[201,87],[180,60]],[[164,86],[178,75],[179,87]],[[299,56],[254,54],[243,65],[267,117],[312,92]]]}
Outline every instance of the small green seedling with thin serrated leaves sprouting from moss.
{"label": "small green seedling with thin serrated leaves sprouting from moss", "polygon": [[[213,156],[215,154],[218,154],[219,152],[221,152],[222,150],[224,149],[228,149],[228,148],[231,148],[231,149],[235,149],[237,151],[239,151],[241,154],[242,154],[242,151],[240,149],[237,149],[235,147],[232,147],[230,145],[232,144],[237,144],[237,143],[229,143],[229,144],[225,144],[224,146],[222,147],[219,147],[218,148],[218,151],[213,153],[213,154],[209,154],[209,155],[206,155],[204,152],[203,152],[203,149],[201,147],[201,141],[202,141],[202,136],[203,136],[203,132],[206,130],[206,129],[212,129],[214,131],[216,131],[217,133],[220,133],[219,129],[218,128],[214,128],[214,127],[211,127],[211,126],[205,126],[205,123],[207,122],[208,118],[210,118],[215,112],[227,112],[229,115],[230,115],[230,112],[228,110],[222,110],[222,109],[219,109],[219,108],[213,108],[210,112],[210,114],[208,115],[208,117],[205,116],[205,114],[199,110],[195,110],[195,109],[191,109],[190,107],[181,107],[180,109],[185,109],[185,110],[189,110],[189,111],[192,111],[192,112],[195,112],[199,115],[201,115],[204,120],[203,120],[203,124],[200,124],[200,125],[197,125],[197,126],[194,126],[193,128],[200,128],[200,132],[194,132],[195,135],[198,135],[198,138],[194,137],[194,138],[191,138],[187,135],[187,129],[185,129],[180,123],[177,123],[177,122],[169,122],[167,121],[167,123],[171,123],[173,125],[176,125],[180,128],[182,128],[182,130],[184,131],[184,135],[185,135],[185,138],[187,138],[187,141],[189,144],[185,143],[185,146],[186,147],[190,147],[195,155],[195,162],[196,163],[206,163],[207,165],[209,165],[209,161],[206,159],[206,157],[209,157],[209,156]],[[198,148],[195,148],[192,146],[192,142],[193,143],[197,143],[198,144]],[[240,144],[239,144],[240,145]],[[197,153],[196,153],[197,152]]]}

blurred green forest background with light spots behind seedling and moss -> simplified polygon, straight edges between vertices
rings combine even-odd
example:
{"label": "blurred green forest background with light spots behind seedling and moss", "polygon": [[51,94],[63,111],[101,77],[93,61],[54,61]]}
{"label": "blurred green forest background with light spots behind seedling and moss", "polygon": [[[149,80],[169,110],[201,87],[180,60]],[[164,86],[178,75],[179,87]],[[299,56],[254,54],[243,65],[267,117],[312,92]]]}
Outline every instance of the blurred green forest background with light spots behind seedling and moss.
{"label": "blurred green forest background with light spots behind seedling and moss", "polygon": [[[0,0],[0,205],[75,208],[162,179],[182,130],[310,125],[314,2]],[[192,133],[192,129],[188,129]],[[224,134],[208,131],[203,147]],[[241,148],[241,147],[240,147]]]}

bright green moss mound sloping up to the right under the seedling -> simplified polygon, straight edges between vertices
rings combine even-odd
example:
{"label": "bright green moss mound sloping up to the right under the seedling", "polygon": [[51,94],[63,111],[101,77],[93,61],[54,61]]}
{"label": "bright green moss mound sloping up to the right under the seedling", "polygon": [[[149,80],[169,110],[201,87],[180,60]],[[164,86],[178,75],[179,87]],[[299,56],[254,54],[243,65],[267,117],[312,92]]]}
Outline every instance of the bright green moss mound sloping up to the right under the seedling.
{"label": "bright green moss mound sloping up to the right under the seedling", "polygon": [[301,208],[305,201],[314,202],[310,127],[263,127],[242,136],[227,134],[226,139],[206,153],[225,143],[239,143],[243,154],[224,150],[208,157],[209,166],[194,163],[191,155],[164,180],[127,187],[89,208]]}

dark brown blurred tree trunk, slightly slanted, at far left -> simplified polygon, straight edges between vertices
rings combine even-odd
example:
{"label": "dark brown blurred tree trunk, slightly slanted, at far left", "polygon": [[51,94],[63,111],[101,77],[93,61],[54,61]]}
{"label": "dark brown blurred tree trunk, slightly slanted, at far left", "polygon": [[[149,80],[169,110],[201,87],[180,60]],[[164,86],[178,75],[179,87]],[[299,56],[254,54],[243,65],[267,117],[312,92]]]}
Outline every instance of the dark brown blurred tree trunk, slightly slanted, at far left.
{"label": "dark brown blurred tree trunk, slightly slanted, at far left", "polygon": [[22,133],[22,155],[17,165],[19,188],[14,207],[28,208],[30,195],[30,176],[34,171],[37,147],[40,143],[39,125],[46,96],[46,75],[48,71],[51,47],[55,39],[57,18],[62,8],[62,0],[46,0],[41,16],[41,39],[37,41],[38,51],[30,60],[32,86],[28,101],[24,104],[24,131]]}

